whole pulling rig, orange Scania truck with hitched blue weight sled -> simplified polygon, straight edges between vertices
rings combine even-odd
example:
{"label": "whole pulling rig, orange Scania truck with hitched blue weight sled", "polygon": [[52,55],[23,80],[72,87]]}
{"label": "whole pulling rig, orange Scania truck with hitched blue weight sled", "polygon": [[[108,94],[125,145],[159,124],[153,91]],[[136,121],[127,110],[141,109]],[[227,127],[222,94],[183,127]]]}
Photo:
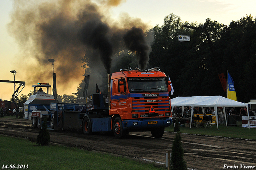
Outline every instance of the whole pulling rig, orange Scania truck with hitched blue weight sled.
{"label": "whole pulling rig, orange Scania truck with hitched blue weight sled", "polygon": [[132,131],[150,131],[161,138],[164,128],[172,124],[171,86],[165,78],[160,68],[129,67],[112,73],[111,78],[108,74],[108,94],[88,95],[84,103],[59,103],[50,94],[41,95],[44,100],[38,94],[31,96],[25,103],[25,117],[38,128],[46,117],[54,130],[82,127],[84,134],[113,132],[116,138]]}

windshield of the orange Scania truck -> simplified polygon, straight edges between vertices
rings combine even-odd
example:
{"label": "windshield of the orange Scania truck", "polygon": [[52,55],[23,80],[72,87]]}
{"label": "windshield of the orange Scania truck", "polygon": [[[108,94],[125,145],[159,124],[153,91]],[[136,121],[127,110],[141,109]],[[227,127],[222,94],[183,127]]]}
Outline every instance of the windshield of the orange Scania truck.
{"label": "windshield of the orange Scania truck", "polygon": [[138,92],[168,92],[163,77],[128,77],[130,93]]}

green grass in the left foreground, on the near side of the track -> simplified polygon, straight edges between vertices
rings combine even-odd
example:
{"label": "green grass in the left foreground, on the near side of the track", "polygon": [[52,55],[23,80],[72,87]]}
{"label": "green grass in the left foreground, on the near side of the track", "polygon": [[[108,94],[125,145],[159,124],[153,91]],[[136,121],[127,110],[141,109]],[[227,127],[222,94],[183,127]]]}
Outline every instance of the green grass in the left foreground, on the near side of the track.
{"label": "green grass in the left foreground, on the near side of the track", "polygon": [[[38,146],[26,139],[0,135],[0,168],[28,165],[30,170],[165,170],[120,156],[65,146]],[[22,168],[23,169],[23,168]]]}

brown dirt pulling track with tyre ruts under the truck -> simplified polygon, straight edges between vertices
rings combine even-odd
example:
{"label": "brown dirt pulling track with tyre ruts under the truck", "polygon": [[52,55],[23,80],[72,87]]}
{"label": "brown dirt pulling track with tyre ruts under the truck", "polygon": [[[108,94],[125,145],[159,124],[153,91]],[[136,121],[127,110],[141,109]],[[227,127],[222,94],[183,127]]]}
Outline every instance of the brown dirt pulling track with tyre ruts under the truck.
{"label": "brown dirt pulling track with tyre ruts under the truck", "polygon": [[[30,120],[0,118],[0,134],[36,140],[38,129]],[[107,152],[154,161],[165,166],[165,154],[171,150],[176,133],[165,132],[162,138],[153,138],[150,132],[130,132],[125,139],[116,139],[111,134],[84,135],[80,131],[50,130],[51,142],[66,146],[77,146],[87,150]],[[184,160],[189,169],[220,170],[240,164],[256,166],[256,141],[233,138],[181,134]],[[230,168],[229,168],[230,169]],[[254,167],[256,169],[256,167]]]}

